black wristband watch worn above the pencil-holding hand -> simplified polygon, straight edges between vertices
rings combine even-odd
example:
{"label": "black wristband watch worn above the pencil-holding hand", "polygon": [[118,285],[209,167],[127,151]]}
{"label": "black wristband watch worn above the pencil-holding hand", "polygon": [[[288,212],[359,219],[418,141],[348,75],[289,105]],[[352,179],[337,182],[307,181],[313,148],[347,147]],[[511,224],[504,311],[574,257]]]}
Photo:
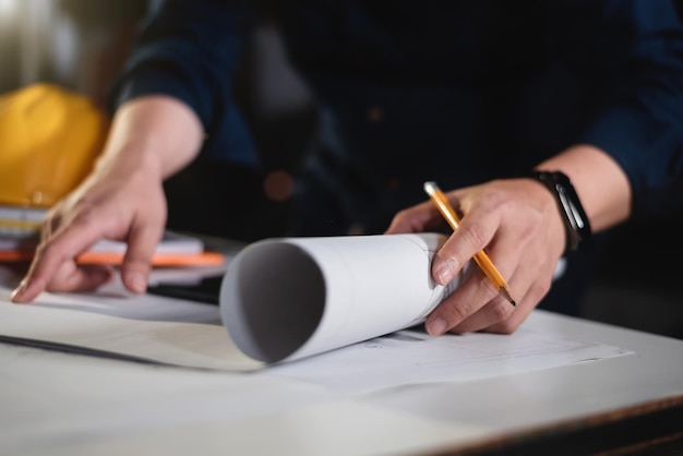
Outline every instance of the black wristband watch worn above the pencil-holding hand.
{"label": "black wristband watch worn above the pencil-holding hand", "polygon": [[566,247],[563,256],[586,243],[591,236],[590,221],[584,206],[572,185],[570,178],[560,171],[531,171],[532,179],[538,180],[551,191],[563,215],[566,229]]}

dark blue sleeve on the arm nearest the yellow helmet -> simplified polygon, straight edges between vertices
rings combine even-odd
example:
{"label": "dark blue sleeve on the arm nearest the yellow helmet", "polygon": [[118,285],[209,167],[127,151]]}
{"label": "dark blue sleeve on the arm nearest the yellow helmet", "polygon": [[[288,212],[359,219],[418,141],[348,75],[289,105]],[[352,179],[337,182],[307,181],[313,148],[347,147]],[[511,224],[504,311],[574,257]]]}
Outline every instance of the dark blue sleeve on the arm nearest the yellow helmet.
{"label": "dark blue sleeve on the arm nearest the yellow helmet", "polygon": [[165,0],[143,24],[110,108],[152,94],[172,96],[200,118],[212,154],[253,165],[253,142],[232,95],[253,15],[245,1]]}

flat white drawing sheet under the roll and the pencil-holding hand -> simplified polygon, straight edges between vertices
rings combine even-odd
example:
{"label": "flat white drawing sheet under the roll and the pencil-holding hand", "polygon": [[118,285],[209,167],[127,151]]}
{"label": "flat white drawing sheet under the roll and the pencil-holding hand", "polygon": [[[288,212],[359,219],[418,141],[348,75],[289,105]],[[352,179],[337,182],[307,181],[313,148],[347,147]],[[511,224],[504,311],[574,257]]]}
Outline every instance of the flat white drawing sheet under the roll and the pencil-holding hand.
{"label": "flat white drawing sheet under the roll and the pencil-holding hand", "polygon": [[324,356],[271,365],[263,373],[362,394],[406,385],[468,382],[624,355],[633,351],[524,326],[512,335],[433,337],[420,331],[400,331]]}

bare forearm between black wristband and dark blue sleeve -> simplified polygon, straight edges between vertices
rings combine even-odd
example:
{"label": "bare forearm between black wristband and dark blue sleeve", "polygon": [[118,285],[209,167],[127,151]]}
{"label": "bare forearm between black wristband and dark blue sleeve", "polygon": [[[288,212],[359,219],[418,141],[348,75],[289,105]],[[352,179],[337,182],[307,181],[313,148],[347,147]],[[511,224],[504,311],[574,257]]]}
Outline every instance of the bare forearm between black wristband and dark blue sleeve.
{"label": "bare forearm between black wristband and dark blue sleeve", "polygon": [[540,163],[536,169],[570,177],[594,232],[624,221],[631,215],[631,184],[624,171],[603,151],[576,145]]}

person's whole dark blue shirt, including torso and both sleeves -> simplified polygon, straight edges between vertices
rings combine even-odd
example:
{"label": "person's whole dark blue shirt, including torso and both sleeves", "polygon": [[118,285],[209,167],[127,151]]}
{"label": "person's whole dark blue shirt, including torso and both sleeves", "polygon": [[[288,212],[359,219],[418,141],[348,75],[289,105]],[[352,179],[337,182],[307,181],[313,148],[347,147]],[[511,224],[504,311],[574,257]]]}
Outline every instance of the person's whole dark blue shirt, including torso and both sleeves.
{"label": "person's whole dark blue shirt, including torso and both sleeves", "polygon": [[444,189],[519,176],[574,144],[610,154],[634,217],[683,206],[683,27],[672,0],[168,0],[144,27],[116,105],[172,95],[203,153],[256,164],[235,103],[267,11],[320,109],[301,233],[381,231]]}

